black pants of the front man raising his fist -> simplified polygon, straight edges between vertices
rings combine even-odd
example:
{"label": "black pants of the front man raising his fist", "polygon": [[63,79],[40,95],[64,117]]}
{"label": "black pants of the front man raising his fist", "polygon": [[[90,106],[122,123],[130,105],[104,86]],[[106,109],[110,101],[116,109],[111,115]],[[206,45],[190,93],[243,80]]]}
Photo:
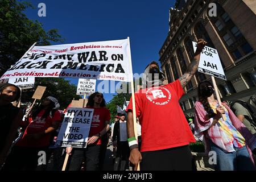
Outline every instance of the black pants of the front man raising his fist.
{"label": "black pants of the front man raising his fist", "polygon": [[142,171],[196,170],[189,146],[142,152]]}

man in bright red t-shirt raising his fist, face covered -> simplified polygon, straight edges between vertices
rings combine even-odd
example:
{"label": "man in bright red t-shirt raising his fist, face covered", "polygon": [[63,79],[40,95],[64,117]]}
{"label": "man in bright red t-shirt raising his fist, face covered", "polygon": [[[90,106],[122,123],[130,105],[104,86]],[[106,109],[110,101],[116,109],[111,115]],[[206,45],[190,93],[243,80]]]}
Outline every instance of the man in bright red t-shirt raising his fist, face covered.
{"label": "man in bright red t-shirt raising his fist, face covered", "polygon": [[127,107],[127,130],[131,163],[141,162],[142,170],[192,170],[195,169],[188,144],[195,138],[180,108],[183,88],[191,80],[199,65],[200,53],[206,42],[197,41],[194,59],[188,70],[178,80],[164,85],[164,74],[156,62],[144,72],[144,89],[135,93],[136,117],[141,123],[141,151],[134,137],[133,105]]}

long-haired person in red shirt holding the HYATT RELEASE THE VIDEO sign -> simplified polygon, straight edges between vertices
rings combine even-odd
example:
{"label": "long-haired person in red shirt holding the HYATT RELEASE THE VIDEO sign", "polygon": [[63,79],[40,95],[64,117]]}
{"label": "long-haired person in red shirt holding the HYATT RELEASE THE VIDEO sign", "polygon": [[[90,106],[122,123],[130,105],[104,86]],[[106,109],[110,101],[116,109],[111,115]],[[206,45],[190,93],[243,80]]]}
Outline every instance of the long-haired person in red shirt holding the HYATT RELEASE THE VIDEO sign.
{"label": "long-haired person in red shirt holding the HYATT RELEASE THE VIDEO sign", "polygon": [[94,112],[87,147],[67,147],[67,154],[72,155],[69,171],[79,171],[84,160],[86,163],[86,171],[98,170],[101,137],[109,130],[110,112],[105,106],[106,102],[102,93],[95,92],[89,96],[86,108],[94,109]]}

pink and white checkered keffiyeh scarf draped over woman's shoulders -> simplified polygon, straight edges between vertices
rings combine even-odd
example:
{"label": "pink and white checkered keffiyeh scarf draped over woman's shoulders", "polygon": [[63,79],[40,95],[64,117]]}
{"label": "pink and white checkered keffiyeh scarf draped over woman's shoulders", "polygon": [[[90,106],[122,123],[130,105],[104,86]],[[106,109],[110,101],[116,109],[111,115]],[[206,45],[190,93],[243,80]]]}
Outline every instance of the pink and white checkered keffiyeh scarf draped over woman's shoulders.
{"label": "pink and white checkered keffiyeh scarf draped over woman's shoulders", "polygon": [[[246,148],[249,151],[251,156],[251,160],[254,163],[253,156],[251,150],[256,148],[256,138],[250,133],[250,131],[246,128],[245,125],[236,117],[233,111],[224,103],[222,103],[226,107],[229,113],[229,118],[234,127],[236,127],[237,131],[241,133],[243,138],[245,138]],[[218,147],[222,148],[224,151],[228,151],[230,143],[225,142],[222,138],[222,130],[217,125],[212,126],[209,129],[209,126],[212,124],[212,119],[206,117],[207,111],[205,111],[203,104],[200,101],[195,103],[195,135],[196,137],[201,137],[204,135],[205,137],[209,137],[214,144]],[[233,144],[233,143],[232,143]],[[206,152],[209,151],[209,143],[205,140],[205,146],[207,148]]]}

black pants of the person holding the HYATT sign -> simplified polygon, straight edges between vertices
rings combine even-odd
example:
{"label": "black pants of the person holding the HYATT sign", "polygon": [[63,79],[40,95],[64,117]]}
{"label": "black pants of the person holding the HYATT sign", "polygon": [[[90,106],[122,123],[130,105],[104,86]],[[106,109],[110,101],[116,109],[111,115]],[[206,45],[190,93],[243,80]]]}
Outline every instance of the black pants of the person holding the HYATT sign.
{"label": "black pants of the person holding the HYATT sign", "polygon": [[81,164],[85,160],[86,171],[97,171],[100,158],[100,144],[87,146],[86,148],[73,148],[69,164],[69,171],[80,171]]}

